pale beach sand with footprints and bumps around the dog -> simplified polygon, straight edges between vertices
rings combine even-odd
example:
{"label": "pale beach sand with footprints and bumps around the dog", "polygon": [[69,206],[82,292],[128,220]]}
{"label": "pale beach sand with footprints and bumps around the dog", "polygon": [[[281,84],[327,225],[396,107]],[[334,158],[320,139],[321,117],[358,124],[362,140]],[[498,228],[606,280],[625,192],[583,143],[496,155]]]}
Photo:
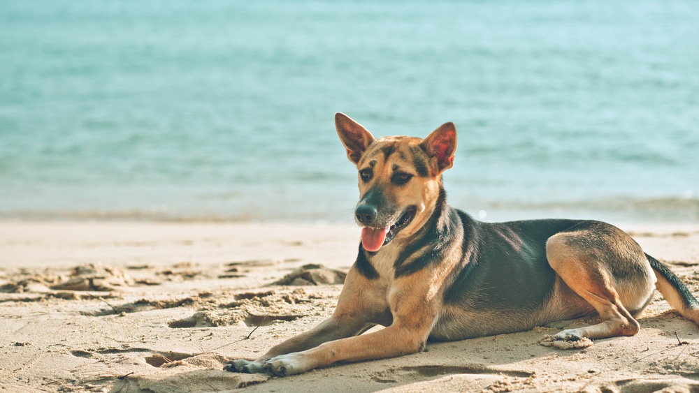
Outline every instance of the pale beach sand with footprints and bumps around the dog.
{"label": "pale beach sand with footprints and bumps around the dog", "polygon": [[[699,225],[619,226],[698,294]],[[351,224],[1,222],[0,389],[699,392],[699,327],[659,294],[639,334],[586,348],[542,346],[558,329],[538,327],[288,378],[222,371],[330,316],[358,236]]]}

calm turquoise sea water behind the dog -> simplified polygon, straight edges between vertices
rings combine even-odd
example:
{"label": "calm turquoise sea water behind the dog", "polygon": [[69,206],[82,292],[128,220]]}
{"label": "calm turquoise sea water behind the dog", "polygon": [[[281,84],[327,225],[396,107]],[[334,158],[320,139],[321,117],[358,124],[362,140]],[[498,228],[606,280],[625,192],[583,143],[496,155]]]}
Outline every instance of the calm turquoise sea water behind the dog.
{"label": "calm turquoise sea water behind the dog", "polygon": [[699,221],[696,1],[0,2],[0,216],[352,221],[345,112],[452,205]]}

